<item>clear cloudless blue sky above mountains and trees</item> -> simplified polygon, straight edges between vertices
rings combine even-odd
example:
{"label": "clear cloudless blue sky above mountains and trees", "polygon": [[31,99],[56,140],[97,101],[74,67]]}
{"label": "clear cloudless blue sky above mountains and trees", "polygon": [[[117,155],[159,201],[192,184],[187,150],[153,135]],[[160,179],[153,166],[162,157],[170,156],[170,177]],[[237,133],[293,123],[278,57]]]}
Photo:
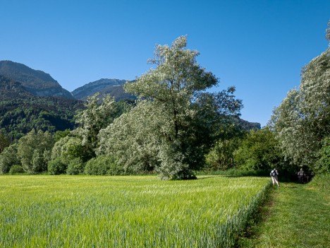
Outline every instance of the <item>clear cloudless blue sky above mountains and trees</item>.
{"label": "clear cloudless blue sky above mountains and trees", "polygon": [[329,45],[329,0],[0,0],[0,9],[0,60],[45,71],[70,91],[141,76],[156,44],[187,35],[220,79],[212,90],[235,85],[241,117],[262,126]]}

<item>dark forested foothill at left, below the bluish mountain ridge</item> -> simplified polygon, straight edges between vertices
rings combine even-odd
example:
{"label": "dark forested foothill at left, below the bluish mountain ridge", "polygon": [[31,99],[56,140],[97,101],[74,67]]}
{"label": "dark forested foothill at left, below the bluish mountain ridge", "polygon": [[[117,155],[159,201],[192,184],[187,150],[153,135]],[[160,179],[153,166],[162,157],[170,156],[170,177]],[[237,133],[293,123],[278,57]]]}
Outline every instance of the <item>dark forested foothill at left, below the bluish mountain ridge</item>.
{"label": "dark forested foothill at left, below the bluish mountain ridge", "polygon": [[0,132],[18,139],[32,129],[63,131],[74,129],[74,116],[83,102],[54,96],[37,96],[23,83],[0,75]]}

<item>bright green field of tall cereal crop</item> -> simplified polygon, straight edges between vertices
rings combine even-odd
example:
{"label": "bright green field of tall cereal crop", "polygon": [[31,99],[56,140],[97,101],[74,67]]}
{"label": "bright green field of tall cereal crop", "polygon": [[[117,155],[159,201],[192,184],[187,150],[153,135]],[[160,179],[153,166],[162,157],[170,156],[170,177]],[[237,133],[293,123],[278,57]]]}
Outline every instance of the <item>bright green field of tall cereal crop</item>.
{"label": "bright green field of tall cereal crop", "polygon": [[269,178],[1,176],[0,247],[231,247]]}

